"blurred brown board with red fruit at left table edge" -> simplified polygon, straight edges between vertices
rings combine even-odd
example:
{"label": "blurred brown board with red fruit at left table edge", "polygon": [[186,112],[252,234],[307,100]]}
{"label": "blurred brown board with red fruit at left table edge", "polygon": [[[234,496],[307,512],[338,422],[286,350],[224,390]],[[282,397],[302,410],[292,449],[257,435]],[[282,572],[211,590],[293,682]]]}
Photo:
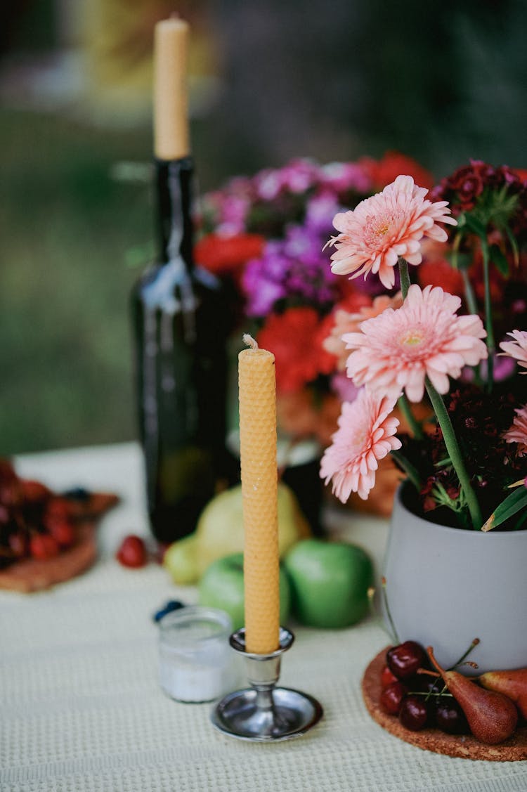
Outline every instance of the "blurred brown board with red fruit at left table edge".
{"label": "blurred brown board with red fruit at left table edge", "polygon": [[0,459],[0,588],[35,592],[76,577],[97,558],[97,521],[114,493],[55,493]]}

